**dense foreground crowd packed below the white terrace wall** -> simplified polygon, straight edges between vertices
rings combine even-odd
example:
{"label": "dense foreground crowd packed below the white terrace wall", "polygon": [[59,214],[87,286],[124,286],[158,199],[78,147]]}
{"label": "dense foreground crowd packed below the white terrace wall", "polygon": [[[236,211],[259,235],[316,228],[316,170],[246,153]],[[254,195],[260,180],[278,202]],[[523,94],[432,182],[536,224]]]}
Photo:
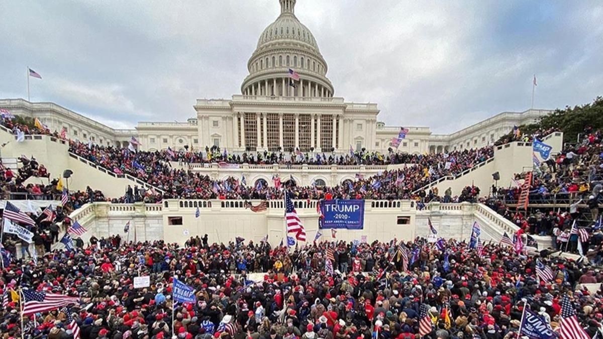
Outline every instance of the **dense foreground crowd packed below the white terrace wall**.
{"label": "dense foreground crowd packed below the white terrace wall", "polygon": [[[327,247],[333,261],[327,263]],[[601,331],[603,282],[585,262],[542,258],[496,244],[481,255],[465,242],[438,249],[425,239],[407,242],[400,260],[396,240],[270,247],[209,244],[186,247],[162,241],[106,241],[14,260],[2,270],[3,338],[516,338],[524,306],[559,330],[561,300],[569,297],[590,337]],[[535,265],[552,270],[538,279]],[[333,266],[331,268],[330,266]],[[332,270],[333,269],[333,270]],[[265,272],[250,280],[250,272]],[[134,288],[137,276],[148,287]],[[194,302],[174,302],[174,282],[194,288]],[[32,289],[77,297],[65,308],[28,314],[10,291]],[[173,317],[172,317],[173,309]],[[73,324],[77,324],[77,328]],[[601,335],[601,333],[599,333]]]}

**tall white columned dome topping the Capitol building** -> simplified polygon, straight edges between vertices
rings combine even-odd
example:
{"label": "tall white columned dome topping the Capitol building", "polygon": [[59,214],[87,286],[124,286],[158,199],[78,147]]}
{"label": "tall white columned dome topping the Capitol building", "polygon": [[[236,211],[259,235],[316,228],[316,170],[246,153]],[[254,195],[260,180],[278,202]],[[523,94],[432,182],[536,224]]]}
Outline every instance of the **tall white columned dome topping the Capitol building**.
{"label": "tall white columned dome topping the Capitol building", "polygon": [[[332,97],[327,63],[314,35],[295,17],[295,0],[279,0],[280,15],[257,39],[247,62],[244,95],[271,97]],[[299,80],[289,78],[289,69]]]}

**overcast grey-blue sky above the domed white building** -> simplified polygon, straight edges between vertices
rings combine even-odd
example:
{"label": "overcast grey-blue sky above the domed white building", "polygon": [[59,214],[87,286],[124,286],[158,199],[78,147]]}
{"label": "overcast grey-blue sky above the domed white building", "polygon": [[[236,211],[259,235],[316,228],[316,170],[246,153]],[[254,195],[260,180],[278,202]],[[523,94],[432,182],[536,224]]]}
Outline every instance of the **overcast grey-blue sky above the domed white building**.
{"label": "overcast grey-blue sky above the domed white building", "polygon": [[[277,0],[0,0],[0,98],[52,101],[112,127],[185,121],[240,93]],[[346,101],[450,133],[503,111],[603,95],[602,1],[297,0]]]}

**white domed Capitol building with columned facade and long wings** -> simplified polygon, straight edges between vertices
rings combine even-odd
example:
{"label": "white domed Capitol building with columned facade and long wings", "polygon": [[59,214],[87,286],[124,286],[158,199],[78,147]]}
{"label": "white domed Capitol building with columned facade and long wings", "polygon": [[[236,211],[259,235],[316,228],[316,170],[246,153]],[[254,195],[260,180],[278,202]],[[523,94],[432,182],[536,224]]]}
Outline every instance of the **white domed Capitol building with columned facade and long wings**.
{"label": "white domed Capitol building with columned facade and long wings", "polygon": [[[400,126],[378,121],[376,103],[347,102],[335,95],[316,39],[295,17],[295,0],[279,2],[279,17],[262,32],[247,62],[249,74],[241,84],[241,94],[230,99],[198,99],[197,116],[187,122],[138,122],[134,129],[115,129],[54,103],[6,99],[0,100],[0,107],[15,115],[37,117],[52,131],[65,128],[68,138],[84,142],[126,147],[134,136],[141,150],[218,145],[231,152],[298,148],[342,153],[351,146],[387,152]],[[289,77],[289,69],[299,80]],[[434,135],[429,127],[404,126],[409,133],[397,151],[441,153],[482,147],[507,134],[513,125],[535,122],[550,112],[502,112],[450,135]]]}

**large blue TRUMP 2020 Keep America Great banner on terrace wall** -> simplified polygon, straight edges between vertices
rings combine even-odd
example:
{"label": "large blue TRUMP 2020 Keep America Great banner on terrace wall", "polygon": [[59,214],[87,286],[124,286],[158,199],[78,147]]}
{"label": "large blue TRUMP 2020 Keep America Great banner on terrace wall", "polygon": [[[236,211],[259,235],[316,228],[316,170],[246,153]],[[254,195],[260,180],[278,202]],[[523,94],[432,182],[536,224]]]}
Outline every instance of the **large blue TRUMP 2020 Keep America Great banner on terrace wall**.
{"label": "large blue TRUMP 2020 Keep America Great banner on terrace wall", "polygon": [[364,228],[364,200],[321,200],[323,229]]}

